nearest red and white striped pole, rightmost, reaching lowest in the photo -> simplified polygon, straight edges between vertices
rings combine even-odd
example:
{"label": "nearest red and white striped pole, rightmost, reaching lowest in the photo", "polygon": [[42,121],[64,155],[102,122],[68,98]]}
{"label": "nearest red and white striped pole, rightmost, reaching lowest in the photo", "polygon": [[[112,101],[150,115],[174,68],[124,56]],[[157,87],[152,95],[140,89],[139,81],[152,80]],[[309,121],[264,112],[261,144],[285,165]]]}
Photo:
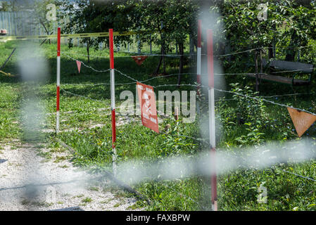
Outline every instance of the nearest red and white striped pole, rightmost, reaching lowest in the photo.
{"label": "nearest red and white striped pole, rightmost, reaching lowest in the photo", "polygon": [[217,177],[215,160],[215,94],[214,94],[214,58],[213,58],[213,31],[208,30],[208,110],[210,131],[210,163],[212,209],[217,211]]}

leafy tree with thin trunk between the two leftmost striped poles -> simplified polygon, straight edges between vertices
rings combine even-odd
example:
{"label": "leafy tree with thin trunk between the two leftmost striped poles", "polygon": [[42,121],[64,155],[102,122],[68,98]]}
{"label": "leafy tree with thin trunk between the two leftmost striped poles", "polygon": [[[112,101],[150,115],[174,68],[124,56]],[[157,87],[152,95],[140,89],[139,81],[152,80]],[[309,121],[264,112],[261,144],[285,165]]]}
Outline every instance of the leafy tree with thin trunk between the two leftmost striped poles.
{"label": "leafy tree with thin trunk between the two leftmost striped poles", "polygon": [[[131,18],[132,5],[126,4],[124,0],[117,1],[84,1],[75,0],[63,2],[63,18],[68,18],[63,32],[88,33],[88,32],[108,32],[113,28],[117,32],[128,31],[134,23]],[[115,44],[125,44],[131,41],[128,36],[115,37]],[[89,48],[97,48],[103,42],[108,46],[108,38],[85,38],[82,43],[87,44],[89,61]],[[71,46],[71,44],[70,44]]]}

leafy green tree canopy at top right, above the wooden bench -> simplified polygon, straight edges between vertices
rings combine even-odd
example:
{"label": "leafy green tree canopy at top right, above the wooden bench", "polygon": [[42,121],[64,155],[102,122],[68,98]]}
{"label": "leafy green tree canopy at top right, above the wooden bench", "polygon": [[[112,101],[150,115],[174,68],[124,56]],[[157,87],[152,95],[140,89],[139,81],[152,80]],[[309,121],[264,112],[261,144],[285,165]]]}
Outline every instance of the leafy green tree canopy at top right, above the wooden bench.
{"label": "leafy green tree canopy at top right, above the wooden bench", "polygon": [[225,30],[217,32],[219,39],[231,43],[234,51],[270,47],[272,44],[287,47],[286,60],[293,60],[298,46],[305,46],[315,37],[315,3],[305,6],[293,0],[267,1],[267,20],[258,20],[258,4],[253,1],[215,1],[210,11],[220,13],[219,23]]}

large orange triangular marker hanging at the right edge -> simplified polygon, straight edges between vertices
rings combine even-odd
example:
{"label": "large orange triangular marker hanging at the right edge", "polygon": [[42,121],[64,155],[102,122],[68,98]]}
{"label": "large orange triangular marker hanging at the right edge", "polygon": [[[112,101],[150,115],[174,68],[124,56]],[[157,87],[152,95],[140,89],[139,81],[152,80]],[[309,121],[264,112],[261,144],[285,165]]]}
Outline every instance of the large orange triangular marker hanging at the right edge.
{"label": "large orange triangular marker hanging at the right edge", "polygon": [[294,127],[299,137],[301,137],[305,131],[307,131],[310,126],[316,121],[316,116],[310,113],[305,113],[303,111],[295,110],[293,108],[287,108],[291,119],[293,121]]}

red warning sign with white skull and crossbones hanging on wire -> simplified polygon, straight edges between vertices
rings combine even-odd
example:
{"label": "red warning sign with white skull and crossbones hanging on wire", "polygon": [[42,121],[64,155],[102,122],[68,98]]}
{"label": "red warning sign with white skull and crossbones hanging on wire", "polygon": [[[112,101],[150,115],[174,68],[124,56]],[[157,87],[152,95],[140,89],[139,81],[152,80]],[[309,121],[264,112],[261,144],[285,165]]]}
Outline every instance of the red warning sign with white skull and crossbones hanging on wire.
{"label": "red warning sign with white skull and crossbones hanging on wire", "polygon": [[137,93],[141,107],[141,122],[145,127],[159,133],[156,99],[153,87],[137,82]]}

